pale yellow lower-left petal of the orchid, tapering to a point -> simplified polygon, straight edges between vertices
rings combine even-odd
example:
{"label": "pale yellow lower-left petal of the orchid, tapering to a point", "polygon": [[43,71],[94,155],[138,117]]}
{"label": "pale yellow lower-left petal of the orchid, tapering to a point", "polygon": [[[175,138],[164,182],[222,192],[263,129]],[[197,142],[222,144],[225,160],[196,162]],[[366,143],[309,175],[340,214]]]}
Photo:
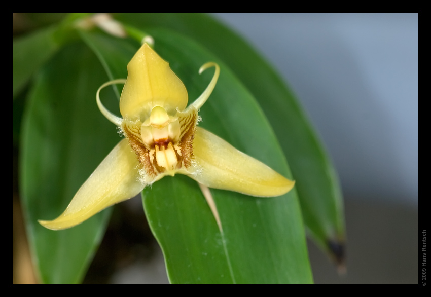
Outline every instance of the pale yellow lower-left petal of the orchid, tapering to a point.
{"label": "pale yellow lower-left petal of the orchid, tapering to a point", "polygon": [[121,140],[78,190],[66,210],[51,221],[39,220],[48,229],[74,227],[99,211],[142,191],[139,163],[127,138]]}

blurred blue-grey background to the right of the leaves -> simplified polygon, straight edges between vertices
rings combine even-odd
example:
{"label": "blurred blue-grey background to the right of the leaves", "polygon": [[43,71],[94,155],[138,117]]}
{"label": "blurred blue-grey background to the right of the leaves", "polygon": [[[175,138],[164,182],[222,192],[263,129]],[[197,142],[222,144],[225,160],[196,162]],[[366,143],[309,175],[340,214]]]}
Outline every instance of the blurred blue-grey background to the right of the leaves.
{"label": "blurred blue-grey background to the right of the leaves", "polygon": [[338,171],[347,274],[309,242],[315,283],[418,284],[418,14],[211,15],[285,79]]}

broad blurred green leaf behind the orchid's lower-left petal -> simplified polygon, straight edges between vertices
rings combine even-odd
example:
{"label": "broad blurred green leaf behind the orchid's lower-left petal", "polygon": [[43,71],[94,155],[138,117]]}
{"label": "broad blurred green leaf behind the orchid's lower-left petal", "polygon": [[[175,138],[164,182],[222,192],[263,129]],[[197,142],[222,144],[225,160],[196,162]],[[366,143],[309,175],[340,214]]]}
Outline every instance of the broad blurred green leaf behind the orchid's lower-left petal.
{"label": "broad blurred green leaf behind the orchid's lower-left petal", "polygon": [[[42,283],[81,282],[110,217],[111,210],[105,210],[63,231],[48,230],[37,221],[61,214],[120,139],[95,103],[97,88],[106,80],[96,56],[74,44],[42,67],[29,94],[20,187],[27,235]],[[106,97],[115,98],[108,93]]]}

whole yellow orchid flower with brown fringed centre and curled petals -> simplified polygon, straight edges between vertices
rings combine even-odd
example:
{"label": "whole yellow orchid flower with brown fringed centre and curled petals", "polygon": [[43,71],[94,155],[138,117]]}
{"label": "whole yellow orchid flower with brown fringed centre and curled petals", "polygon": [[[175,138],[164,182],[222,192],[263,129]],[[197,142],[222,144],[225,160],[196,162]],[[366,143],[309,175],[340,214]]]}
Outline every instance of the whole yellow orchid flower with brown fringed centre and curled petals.
{"label": "whole yellow orchid flower with brown fringed centre and curled petals", "polygon": [[[184,84],[166,61],[143,44],[127,65],[127,80],[105,83],[96,94],[102,114],[126,137],[90,175],[66,210],[54,220],[40,220],[40,224],[52,230],[74,227],[104,208],[136,196],[163,176],[176,173],[198,181],[206,198],[210,194],[205,187],[260,197],[289,192],[294,181],[197,127],[199,108],[220,73],[219,65],[213,62],[204,64],[199,73],[209,67],[215,67],[211,82],[187,106]],[[120,98],[123,118],[109,112],[99,98],[102,88],[116,83],[125,84]],[[214,206],[210,203],[210,207]]]}

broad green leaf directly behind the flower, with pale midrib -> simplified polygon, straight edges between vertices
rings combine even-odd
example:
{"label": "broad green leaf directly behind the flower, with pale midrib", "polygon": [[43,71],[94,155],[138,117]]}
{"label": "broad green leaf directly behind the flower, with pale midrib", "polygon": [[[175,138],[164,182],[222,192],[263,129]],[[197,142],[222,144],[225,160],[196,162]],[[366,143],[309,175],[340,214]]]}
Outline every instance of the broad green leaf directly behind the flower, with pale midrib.
{"label": "broad green leaf directly behind the flower, with pale midrib", "polygon": [[[183,36],[169,31],[152,32],[155,50],[170,62],[186,85],[189,102],[198,97],[211,78],[211,73],[198,75],[199,67],[207,61],[220,63],[222,74],[201,108],[200,126],[290,177],[260,107],[229,68]],[[96,33],[83,36],[102,58],[102,64],[109,67],[113,78],[118,78],[109,61],[112,55],[125,51],[104,50],[106,38]],[[275,198],[221,190],[211,193],[219,209],[223,233],[197,183],[190,178],[165,177],[143,191],[145,211],[164,252],[172,283],[312,282],[295,190]]]}

